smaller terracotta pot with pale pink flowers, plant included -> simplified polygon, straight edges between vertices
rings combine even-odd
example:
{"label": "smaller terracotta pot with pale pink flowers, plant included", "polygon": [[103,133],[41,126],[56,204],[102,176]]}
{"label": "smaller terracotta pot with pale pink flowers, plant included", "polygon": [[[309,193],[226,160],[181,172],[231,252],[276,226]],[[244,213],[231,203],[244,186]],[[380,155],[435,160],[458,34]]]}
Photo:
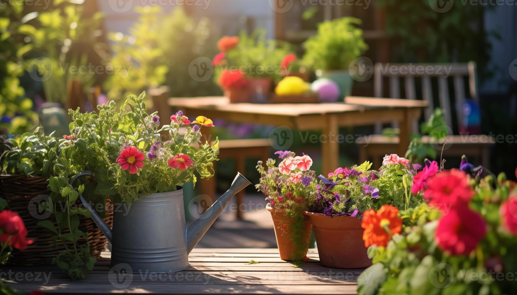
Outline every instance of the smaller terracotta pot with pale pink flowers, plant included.
{"label": "smaller terracotta pot with pale pink flowers, plant included", "polygon": [[[282,162],[268,159],[267,169],[258,161],[260,183],[255,187],[266,195],[280,258],[301,261],[306,258],[312,226],[302,212],[315,193],[315,172],[308,155],[297,157],[291,151],[277,151]],[[313,198],[313,197],[312,197]]]}

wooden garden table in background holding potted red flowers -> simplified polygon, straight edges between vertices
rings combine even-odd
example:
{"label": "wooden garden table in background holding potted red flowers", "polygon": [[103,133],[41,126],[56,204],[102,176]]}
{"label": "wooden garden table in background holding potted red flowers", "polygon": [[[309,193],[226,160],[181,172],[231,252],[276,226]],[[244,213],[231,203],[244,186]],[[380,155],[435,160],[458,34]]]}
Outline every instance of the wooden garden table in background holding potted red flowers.
{"label": "wooden garden table in background holding potted red flowers", "polygon": [[413,121],[428,106],[427,101],[423,100],[369,97],[346,97],[344,102],[336,103],[283,104],[230,103],[225,97],[199,97],[170,98],[168,103],[188,116],[203,115],[232,122],[287,126],[298,131],[322,131],[329,138],[321,142],[324,174],[337,168],[339,142],[335,138],[340,127],[399,122],[398,152],[403,155],[409,145]]}

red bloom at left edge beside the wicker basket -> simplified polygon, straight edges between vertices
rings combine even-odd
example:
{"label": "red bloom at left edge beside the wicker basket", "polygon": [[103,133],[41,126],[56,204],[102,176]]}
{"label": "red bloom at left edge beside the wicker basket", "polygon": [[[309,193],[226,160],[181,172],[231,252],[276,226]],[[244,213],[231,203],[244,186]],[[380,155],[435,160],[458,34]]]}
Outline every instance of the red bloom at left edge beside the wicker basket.
{"label": "red bloom at left edge beside the wicker basket", "polygon": [[0,212],[0,242],[7,242],[21,251],[33,243],[32,240],[27,240],[27,229],[18,213],[9,210]]}

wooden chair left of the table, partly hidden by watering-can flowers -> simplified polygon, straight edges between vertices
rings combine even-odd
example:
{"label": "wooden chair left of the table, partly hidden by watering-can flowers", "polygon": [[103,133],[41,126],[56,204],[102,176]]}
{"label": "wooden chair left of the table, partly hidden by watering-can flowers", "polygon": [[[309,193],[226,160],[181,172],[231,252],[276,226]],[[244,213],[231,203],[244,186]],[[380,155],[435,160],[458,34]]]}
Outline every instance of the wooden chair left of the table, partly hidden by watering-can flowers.
{"label": "wooden chair left of the table, partly hidden by watering-can flowers", "polygon": [[[154,111],[170,110],[167,100],[169,99],[169,88],[162,86],[159,88],[151,88],[148,91],[149,96],[153,100]],[[169,116],[160,116],[162,125],[169,124]],[[205,129],[206,130],[206,129]],[[209,131],[209,130],[208,130]],[[205,133],[205,132],[204,132]],[[210,134],[204,134],[206,138],[210,138]],[[249,158],[260,159],[266,161],[269,158],[269,140],[267,138],[258,139],[223,139],[219,141],[219,159],[235,159],[235,170],[245,173],[245,160]],[[214,166],[217,162],[214,163]],[[217,171],[217,169],[215,169]],[[216,176],[209,179],[200,179],[196,184],[200,188],[200,193],[208,195],[215,201],[216,197]],[[242,219],[240,207],[244,201],[244,190],[237,193],[237,219]]]}

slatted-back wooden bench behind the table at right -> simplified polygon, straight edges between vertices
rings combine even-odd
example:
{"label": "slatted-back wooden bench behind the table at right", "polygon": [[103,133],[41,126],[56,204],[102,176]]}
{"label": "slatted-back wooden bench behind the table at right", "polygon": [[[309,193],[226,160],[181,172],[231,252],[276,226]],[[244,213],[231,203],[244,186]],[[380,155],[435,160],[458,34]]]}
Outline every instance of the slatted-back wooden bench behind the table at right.
{"label": "slatted-back wooden bench behind the table at right", "polygon": [[[408,69],[425,69],[432,66],[436,69],[433,72],[428,71],[421,73],[409,72]],[[437,70],[436,67],[441,67]],[[454,106],[451,105],[449,97],[449,81],[445,74],[445,69],[450,70],[449,76],[453,81],[454,87]],[[435,103],[432,88],[432,79],[437,80],[438,85],[438,107],[444,111],[445,121],[447,126],[453,127],[452,112],[455,110],[457,118],[458,129],[464,126],[463,110],[465,102],[465,84],[464,78],[468,79],[468,92],[470,98],[479,104],[478,89],[476,83],[476,63],[470,61],[466,64],[375,64],[374,66],[374,91],[376,97],[383,97],[383,80],[384,77],[389,79],[389,97],[402,98],[400,83],[403,79],[404,94],[406,99],[416,99],[415,79],[421,79],[422,99],[427,100],[429,107],[425,110],[424,118],[427,120],[434,111]],[[375,132],[380,133],[382,129],[381,124],[375,126]],[[418,122],[413,123],[413,131],[418,132]],[[451,130],[449,130],[450,133]],[[433,138],[423,136],[422,142],[433,143]],[[483,166],[489,165],[489,147],[495,144],[495,139],[487,135],[453,135],[448,134],[441,143],[447,143],[444,148],[444,156],[462,156],[465,154],[469,158],[475,158],[478,163]],[[394,153],[397,151],[397,144],[399,138],[397,136],[383,136],[372,135],[370,141],[361,138],[357,142],[359,147],[360,161],[374,160],[382,161],[385,154]],[[441,146],[441,145],[440,145]],[[439,148],[437,148],[439,149]],[[439,151],[441,152],[441,150]],[[439,152],[437,152],[439,154]]]}

